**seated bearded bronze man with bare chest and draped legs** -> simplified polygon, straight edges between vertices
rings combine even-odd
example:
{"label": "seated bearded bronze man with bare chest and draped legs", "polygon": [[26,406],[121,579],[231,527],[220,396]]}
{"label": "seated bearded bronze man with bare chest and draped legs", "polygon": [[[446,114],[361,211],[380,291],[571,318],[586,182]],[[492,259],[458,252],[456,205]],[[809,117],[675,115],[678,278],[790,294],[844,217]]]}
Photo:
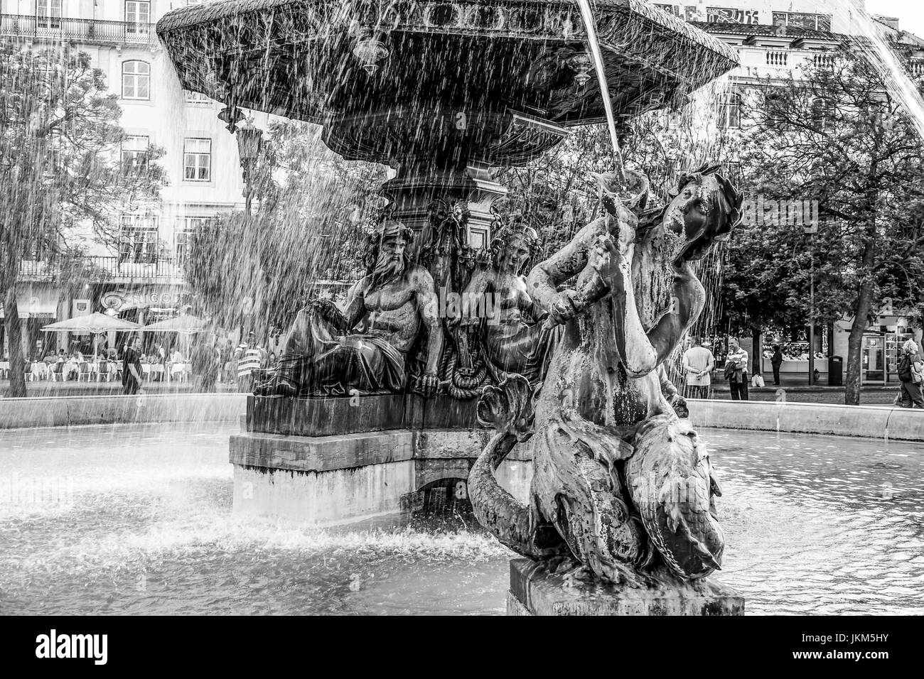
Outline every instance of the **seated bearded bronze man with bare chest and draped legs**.
{"label": "seated bearded bronze man with bare chest and draped legs", "polygon": [[318,299],[298,317],[261,395],[395,394],[407,386],[412,350],[425,331],[422,374],[413,388],[425,396],[439,387],[443,328],[431,274],[407,258],[413,231],[385,220],[370,237],[368,273],[350,289],[345,309]]}

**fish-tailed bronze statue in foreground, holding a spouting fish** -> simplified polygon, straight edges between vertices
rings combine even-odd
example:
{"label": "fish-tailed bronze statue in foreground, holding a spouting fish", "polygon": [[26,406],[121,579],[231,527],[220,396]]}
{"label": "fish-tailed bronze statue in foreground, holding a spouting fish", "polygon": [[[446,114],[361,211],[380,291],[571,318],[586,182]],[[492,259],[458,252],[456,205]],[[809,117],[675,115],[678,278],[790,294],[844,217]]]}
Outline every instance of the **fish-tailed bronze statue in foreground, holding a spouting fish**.
{"label": "fish-tailed bronze statue in foreground, holding a spouting fish", "polygon": [[[603,182],[607,214],[529,273],[530,296],[549,311],[547,322],[565,325],[564,337],[534,410],[524,378],[485,388],[479,417],[500,432],[469,477],[480,522],[515,551],[571,556],[632,586],[696,579],[721,566],[713,503],[721,491],[659,370],[704,304],[689,261],[740,218],[741,195],[716,169],[681,176],[656,214],[643,212],[644,176],[631,177],[633,200]],[[573,287],[558,291],[574,276]],[[528,439],[534,475],[524,506],[493,470]]]}

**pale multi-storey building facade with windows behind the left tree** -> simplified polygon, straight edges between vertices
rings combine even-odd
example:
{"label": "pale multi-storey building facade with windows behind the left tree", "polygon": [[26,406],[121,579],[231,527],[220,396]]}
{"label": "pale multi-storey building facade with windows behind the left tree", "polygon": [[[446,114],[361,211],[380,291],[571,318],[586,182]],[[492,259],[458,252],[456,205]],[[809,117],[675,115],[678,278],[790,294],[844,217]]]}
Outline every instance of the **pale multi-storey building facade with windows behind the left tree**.
{"label": "pale multi-storey building facade with windows behind the left tree", "polygon": [[[200,0],[201,2],[201,0]],[[131,164],[149,145],[164,149],[157,162],[167,186],[155,210],[120,217],[117,247],[82,236],[92,270],[102,275],[81,290],[54,285],[55,272],[41,258],[22,262],[18,306],[24,341],[34,354],[40,328],[76,314],[115,309],[132,321],[176,313],[183,292],[189,237],[216,215],[243,207],[237,139],[217,118],[224,106],[183,91],[155,34],[164,13],[194,0],[0,0],[0,40],[32,49],[72,45],[103,70],[118,95],[120,125],[128,139],[120,149]],[[58,341],[55,343],[54,339]],[[59,333],[52,344],[69,349]],[[2,355],[9,338],[3,339]]]}

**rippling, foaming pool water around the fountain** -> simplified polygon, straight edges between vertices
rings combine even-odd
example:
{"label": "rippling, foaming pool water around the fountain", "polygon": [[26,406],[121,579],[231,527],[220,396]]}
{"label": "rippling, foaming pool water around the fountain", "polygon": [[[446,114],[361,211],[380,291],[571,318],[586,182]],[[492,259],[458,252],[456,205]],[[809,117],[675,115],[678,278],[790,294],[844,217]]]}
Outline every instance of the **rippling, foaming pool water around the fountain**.
{"label": "rippling, foaming pool water around the fountain", "polygon": [[[512,552],[470,515],[232,514],[233,430],[0,431],[0,613],[504,612]],[[703,433],[748,612],[924,613],[919,444]]]}

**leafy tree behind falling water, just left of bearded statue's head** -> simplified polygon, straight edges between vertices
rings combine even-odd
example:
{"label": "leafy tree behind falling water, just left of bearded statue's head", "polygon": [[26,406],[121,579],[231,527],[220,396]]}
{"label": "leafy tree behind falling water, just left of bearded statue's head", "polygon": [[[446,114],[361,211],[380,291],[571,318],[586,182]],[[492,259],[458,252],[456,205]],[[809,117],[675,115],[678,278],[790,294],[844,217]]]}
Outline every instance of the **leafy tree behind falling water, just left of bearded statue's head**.
{"label": "leafy tree behind falling water, just left of bearded statue's head", "polygon": [[[287,327],[321,279],[350,280],[363,267],[364,224],[383,203],[383,165],[346,161],[320,127],[275,122],[255,177],[256,214],[225,215],[193,236],[187,283],[218,324],[261,332]],[[361,275],[361,273],[359,273]]]}

